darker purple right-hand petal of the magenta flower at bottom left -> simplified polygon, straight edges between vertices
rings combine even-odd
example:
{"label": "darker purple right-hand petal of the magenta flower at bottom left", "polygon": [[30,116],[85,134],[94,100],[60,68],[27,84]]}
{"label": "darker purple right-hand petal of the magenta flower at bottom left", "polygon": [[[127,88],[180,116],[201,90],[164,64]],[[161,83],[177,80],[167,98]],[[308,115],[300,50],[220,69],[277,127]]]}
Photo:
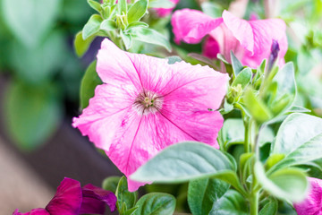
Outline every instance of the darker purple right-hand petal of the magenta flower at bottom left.
{"label": "darker purple right-hand petal of the magenta flower at bottom left", "polygon": [[111,211],[115,210],[116,196],[110,191],[106,191],[94,185],[85,185],[82,188],[80,214],[95,213],[104,214],[106,205]]}

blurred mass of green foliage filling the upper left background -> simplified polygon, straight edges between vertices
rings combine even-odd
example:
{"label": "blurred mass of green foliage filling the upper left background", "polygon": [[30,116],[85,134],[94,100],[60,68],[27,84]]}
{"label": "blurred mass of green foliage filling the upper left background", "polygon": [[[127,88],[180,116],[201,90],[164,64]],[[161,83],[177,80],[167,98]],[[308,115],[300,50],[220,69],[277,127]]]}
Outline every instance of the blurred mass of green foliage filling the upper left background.
{"label": "blurred mass of green foliage filling the upper left background", "polygon": [[85,0],[0,0],[0,73],[10,77],[1,103],[22,150],[55,133],[66,104],[67,112],[78,107],[88,63],[74,54],[72,39],[91,13]]}

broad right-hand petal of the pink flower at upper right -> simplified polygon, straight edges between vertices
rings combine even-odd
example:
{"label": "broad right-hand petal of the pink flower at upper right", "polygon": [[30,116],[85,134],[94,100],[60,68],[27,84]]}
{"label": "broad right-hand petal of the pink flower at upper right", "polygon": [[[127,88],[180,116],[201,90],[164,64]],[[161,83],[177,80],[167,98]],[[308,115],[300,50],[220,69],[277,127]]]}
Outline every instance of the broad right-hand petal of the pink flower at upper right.
{"label": "broad right-hand petal of the pink flower at upper right", "polygon": [[[227,11],[224,11],[223,19],[226,28],[230,30],[233,37],[240,42],[240,44],[234,43],[232,36],[227,34],[227,30],[222,29],[225,31],[224,34],[226,40],[232,41],[226,42],[225,45],[221,46],[220,53],[222,53],[226,58],[228,57],[227,50],[232,49],[235,56],[242,61],[242,64],[248,65],[251,68],[256,68],[264,59],[268,58],[270,47],[273,39],[275,39],[281,49],[278,54],[278,64],[284,64],[284,55],[287,51],[287,38],[285,32],[286,26],[283,20],[268,19],[247,22],[233,16],[232,13]],[[211,34],[215,39],[218,37],[216,36],[218,32],[212,32]],[[224,39],[216,40],[221,44],[221,41]],[[232,47],[232,44],[235,47]],[[227,45],[228,47],[226,47]]]}

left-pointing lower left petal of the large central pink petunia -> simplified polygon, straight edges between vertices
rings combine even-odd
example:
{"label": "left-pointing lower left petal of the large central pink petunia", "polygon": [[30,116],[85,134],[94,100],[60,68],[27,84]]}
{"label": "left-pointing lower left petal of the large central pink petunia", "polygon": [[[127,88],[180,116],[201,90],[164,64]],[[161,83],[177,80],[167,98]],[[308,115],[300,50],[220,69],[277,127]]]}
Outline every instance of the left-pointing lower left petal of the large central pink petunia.
{"label": "left-pointing lower left petal of the large central pink petunia", "polygon": [[102,84],[97,86],[95,96],[89,99],[89,107],[80,117],[73,118],[73,126],[104,150],[109,150],[114,133],[125,122],[127,109],[139,92],[131,84]]}

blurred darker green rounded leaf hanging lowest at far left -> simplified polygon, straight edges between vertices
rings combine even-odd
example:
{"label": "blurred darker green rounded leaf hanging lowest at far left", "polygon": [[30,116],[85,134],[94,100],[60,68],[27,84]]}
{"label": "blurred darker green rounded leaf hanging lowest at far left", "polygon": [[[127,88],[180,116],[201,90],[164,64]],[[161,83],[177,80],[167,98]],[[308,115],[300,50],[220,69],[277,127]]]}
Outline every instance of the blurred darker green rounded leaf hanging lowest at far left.
{"label": "blurred darker green rounded leaf hanging lowest at far left", "polygon": [[31,87],[12,82],[4,105],[7,130],[21,150],[35,150],[45,143],[62,117],[57,91],[50,84]]}

